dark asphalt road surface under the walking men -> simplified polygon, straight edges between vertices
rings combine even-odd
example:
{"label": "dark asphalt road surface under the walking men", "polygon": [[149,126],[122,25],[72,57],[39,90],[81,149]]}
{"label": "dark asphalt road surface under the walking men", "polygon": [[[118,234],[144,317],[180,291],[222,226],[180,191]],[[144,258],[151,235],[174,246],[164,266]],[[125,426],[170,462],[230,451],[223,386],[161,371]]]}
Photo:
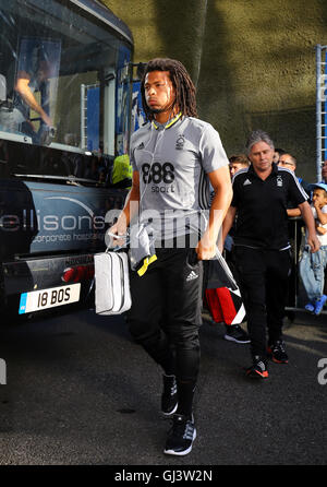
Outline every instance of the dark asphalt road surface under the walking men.
{"label": "dark asphalt road surface under the walking men", "polygon": [[160,371],[122,318],[72,310],[7,323],[0,337],[1,465],[327,463],[326,314],[287,323],[290,363],[271,363],[264,382],[244,377],[249,345],[225,341],[223,326],[205,321],[198,435],[184,458],[162,453],[170,421],[159,414]]}

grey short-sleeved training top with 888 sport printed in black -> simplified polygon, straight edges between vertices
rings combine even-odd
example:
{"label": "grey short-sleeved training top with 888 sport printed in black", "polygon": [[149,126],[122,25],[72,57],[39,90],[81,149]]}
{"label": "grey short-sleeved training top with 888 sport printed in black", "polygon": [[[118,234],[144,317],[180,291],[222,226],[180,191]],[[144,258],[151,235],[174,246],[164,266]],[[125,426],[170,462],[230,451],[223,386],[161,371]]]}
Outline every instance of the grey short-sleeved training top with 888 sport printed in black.
{"label": "grey short-sleeved training top with 888 sport printed in black", "polygon": [[130,158],[140,171],[141,221],[150,218],[158,239],[196,231],[199,222],[204,229],[207,174],[229,164],[213,126],[180,115],[165,126],[147,123],[132,135]]}

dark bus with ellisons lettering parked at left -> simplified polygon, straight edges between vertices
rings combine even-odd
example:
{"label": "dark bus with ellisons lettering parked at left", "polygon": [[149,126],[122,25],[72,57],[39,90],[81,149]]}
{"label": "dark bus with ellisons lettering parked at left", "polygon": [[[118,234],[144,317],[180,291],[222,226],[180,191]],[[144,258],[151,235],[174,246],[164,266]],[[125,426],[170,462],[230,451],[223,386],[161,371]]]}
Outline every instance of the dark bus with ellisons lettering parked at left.
{"label": "dark bus with ellisons lettering parked at left", "polygon": [[131,186],[133,37],[96,0],[0,14],[0,301],[26,317],[85,300]]}

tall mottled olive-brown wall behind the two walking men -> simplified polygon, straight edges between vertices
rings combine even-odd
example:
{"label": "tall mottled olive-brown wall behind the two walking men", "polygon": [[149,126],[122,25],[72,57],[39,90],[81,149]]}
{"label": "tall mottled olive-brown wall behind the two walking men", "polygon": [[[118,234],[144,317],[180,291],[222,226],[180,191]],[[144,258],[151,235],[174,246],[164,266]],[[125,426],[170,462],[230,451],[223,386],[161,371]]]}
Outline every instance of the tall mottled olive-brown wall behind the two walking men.
{"label": "tall mottled olive-brown wall behind the two walking men", "polygon": [[316,178],[315,45],[327,44],[325,0],[104,0],[131,28],[135,62],[181,60],[201,118],[228,155],[266,130]]}

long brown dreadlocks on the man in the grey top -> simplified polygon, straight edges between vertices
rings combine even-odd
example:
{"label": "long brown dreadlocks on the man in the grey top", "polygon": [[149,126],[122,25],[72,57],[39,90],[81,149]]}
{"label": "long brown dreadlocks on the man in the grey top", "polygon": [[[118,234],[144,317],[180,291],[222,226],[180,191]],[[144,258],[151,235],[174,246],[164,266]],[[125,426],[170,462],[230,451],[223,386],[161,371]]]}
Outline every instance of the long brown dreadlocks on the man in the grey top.
{"label": "long brown dreadlocks on the man in the grey top", "polygon": [[169,71],[170,80],[175,90],[173,106],[177,105],[179,107],[182,116],[197,118],[196,90],[185,67],[175,59],[156,58],[147,63],[141,82],[142,104],[147,120],[153,120],[154,114],[147,106],[144,84],[146,74],[152,71]]}

